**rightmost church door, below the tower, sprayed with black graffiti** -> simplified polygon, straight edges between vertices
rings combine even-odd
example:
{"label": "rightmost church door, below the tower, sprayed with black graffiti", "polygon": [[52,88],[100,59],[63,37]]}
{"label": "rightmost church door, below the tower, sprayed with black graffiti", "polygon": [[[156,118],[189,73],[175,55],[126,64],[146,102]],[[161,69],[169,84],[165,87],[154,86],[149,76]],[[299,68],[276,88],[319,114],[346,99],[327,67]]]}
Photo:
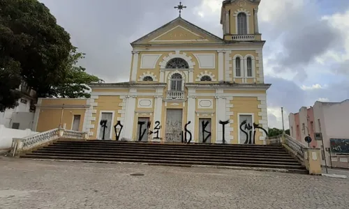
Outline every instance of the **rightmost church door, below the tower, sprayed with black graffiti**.
{"label": "rightmost church door, below the tower, sprayed with black graffiti", "polygon": [[240,144],[255,144],[253,139],[253,123],[251,115],[239,115]]}

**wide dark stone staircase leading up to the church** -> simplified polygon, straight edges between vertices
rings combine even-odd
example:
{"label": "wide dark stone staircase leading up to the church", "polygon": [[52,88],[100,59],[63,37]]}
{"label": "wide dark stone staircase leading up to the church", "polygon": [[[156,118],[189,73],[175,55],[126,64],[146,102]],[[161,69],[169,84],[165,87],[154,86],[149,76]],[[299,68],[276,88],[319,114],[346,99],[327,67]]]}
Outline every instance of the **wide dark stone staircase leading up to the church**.
{"label": "wide dark stone staircase leading up to the church", "polygon": [[20,157],[50,160],[142,162],[286,169],[308,173],[282,146],[223,144],[152,144],[125,141],[58,140]]}

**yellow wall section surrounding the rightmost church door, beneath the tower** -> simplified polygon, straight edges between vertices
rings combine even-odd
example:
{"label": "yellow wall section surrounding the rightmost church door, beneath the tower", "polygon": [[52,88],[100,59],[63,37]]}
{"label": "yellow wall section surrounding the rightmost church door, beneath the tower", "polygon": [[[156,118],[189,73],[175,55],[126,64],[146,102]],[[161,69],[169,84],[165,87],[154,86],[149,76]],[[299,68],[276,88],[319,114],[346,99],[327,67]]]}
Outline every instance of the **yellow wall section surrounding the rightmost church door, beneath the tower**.
{"label": "yellow wall section surrounding the rightmost church door, beneath the tower", "polygon": [[[233,100],[230,101],[230,104],[233,104],[233,107],[230,108],[230,111],[234,111],[234,115],[230,116],[230,120],[233,120],[234,123],[232,124],[234,127],[234,131],[230,132],[232,136],[234,136],[234,139],[231,141],[232,144],[238,144],[238,132],[239,129],[239,121],[238,115],[245,113],[245,114],[253,114],[254,121],[253,123],[257,123],[259,120],[262,120],[262,116],[258,116],[258,113],[262,111],[260,108],[258,108],[258,104],[260,104],[260,101],[257,100],[256,97],[234,97]],[[259,137],[262,136],[262,133],[259,130],[256,130],[255,132],[255,144],[263,144],[263,141],[259,139]]]}

